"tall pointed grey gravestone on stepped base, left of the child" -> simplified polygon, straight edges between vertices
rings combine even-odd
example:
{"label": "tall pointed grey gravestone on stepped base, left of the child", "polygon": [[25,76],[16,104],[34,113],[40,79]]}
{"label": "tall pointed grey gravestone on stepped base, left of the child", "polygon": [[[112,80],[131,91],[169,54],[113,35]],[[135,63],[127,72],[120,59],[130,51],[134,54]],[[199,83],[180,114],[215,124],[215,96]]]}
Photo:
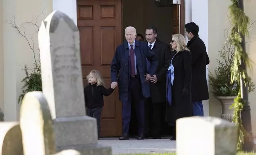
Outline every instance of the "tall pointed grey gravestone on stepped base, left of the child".
{"label": "tall pointed grey gravestone on stepped base, left of the child", "polygon": [[97,145],[96,119],[85,115],[78,27],[54,11],[42,22],[38,40],[43,93],[54,120],[57,151],[112,154],[110,147]]}

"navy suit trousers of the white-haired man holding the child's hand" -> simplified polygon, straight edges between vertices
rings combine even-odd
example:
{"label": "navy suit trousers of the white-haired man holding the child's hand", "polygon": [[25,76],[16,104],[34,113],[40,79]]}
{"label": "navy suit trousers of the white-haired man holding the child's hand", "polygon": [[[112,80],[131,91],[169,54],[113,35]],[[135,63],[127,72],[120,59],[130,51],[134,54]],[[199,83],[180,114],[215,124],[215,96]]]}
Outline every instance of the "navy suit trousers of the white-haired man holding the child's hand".
{"label": "navy suit trousers of the white-haired man holding the child's hand", "polygon": [[128,134],[131,119],[131,104],[136,106],[138,119],[138,134],[144,134],[144,96],[142,95],[142,85],[139,76],[130,77],[128,86],[128,101],[122,101],[122,130],[123,134]]}

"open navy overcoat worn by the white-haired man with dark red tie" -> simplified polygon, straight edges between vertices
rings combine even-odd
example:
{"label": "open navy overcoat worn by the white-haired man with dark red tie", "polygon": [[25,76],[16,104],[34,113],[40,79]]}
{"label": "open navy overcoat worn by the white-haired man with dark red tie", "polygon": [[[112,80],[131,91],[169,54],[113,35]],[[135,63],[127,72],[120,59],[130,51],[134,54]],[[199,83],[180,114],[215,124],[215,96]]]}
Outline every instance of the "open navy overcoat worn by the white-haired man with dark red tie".
{"label": "open navy overcoat worn by the white-haired man with dark red tie", "polygon": [[[128,100],[128,85],[131,76],[129,47],[127,41],[116,48],[116,52],[111,63],[111,82],[118,82],[119,100]],[[137,71],[142,83],[142,94],[145,98],[150,97],[149,83],[145,82],[145,74],[153,76],[157,69],[158,60],[155,53],[150,51],[144,42],[135,41],[134,53],[136,55]],[[147,71],[147,61],[151,62]]]}

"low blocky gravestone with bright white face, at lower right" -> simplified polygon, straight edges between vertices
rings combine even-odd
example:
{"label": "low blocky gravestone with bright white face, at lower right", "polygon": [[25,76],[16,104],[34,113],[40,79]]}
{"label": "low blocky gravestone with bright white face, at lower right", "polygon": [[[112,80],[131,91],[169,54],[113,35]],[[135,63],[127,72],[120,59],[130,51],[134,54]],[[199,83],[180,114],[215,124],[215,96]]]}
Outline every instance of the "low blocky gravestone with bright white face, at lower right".
{"label": "low blocky gravestone with bright white face, at lower right", "polygon": [[237,127],[217,117],[185,117],[176,121],[177,155],[236,155]]}

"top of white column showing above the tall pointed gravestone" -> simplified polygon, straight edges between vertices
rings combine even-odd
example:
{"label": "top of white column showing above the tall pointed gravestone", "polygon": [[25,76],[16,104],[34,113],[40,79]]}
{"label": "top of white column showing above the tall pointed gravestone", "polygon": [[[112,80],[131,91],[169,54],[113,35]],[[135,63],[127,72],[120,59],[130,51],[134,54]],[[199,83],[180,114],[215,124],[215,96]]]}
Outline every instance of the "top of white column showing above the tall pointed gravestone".
{"label": "top of white column showing above the tall pointed gravestone", "polygon": [[52,10],[65,13],[77,24],[76,0],[52,0]]}

